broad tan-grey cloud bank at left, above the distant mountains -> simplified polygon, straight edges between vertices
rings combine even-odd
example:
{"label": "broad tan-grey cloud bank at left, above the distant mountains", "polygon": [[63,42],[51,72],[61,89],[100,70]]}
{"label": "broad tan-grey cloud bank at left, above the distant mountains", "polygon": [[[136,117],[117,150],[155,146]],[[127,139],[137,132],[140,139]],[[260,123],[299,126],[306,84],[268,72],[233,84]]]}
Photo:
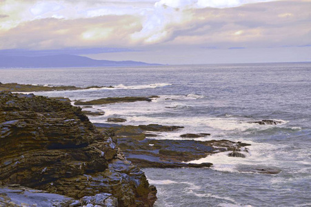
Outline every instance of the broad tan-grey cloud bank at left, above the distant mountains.
{"label": "broad tan-grey cloud bank at left, above the distant mountains", "polygon": [[0,49],[117,48],[130,44],[129,35],[141,30],[138,21],[128,15],[28,21],[0,32]]}

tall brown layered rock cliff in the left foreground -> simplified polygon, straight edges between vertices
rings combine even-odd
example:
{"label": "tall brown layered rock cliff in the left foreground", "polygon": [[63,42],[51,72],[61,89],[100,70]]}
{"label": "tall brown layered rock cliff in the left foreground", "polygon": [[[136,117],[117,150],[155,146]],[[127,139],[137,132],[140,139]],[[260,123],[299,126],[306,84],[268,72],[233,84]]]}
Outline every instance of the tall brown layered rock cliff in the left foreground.
{"label": "tall brown layered rock cliff in the left foreground", "polygon": [[99,132],[66,101],[0,92],[0,140],[0,185],[90,201],[106,193],[118,206],[152,206],[156,199],[111,132]]}

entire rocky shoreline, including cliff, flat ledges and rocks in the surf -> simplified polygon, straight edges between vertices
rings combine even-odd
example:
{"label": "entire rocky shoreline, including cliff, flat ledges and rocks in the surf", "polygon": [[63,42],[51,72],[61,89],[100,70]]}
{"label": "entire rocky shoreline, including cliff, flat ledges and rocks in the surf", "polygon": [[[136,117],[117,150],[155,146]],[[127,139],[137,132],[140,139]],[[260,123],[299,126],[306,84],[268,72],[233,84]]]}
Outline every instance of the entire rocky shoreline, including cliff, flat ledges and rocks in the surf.
{"label": "entire rocky shoreline, including cliff, flat ledges and rocks in the surf", "polygon": [[[157,132],[173,132],[183,126],[123,126],[119,123],[126,119],[122,118],[109,118],[114,124],[92,124],[87,117],[105,114],[89,110],[90,105],[151,101],[157,96],[76,101],[75,105],[83,105],[81,110],[62,97],[1,92],[3,85],[0,83],[0,206],[21,205],[17,200],[40,206],[43,197],[55,198],[46,203],[50,206],[153,206],[157,189],[148,184],[139,168],[210,168],[211,163],[190,161],[219,152],[243,159],[249,152],[250,144],[239,141],[195,140],[210,133],[188,133],[178,140],[152,139]],[[32,85],[14,86],[33,89]],[[13,88],[11,91],[19,87]],[[252,123],[280,124],[275,120]],[[276,174],[280,170],[260,167],[241,172]],[[25,198],[30,194],[36,194],[35,199]]]}

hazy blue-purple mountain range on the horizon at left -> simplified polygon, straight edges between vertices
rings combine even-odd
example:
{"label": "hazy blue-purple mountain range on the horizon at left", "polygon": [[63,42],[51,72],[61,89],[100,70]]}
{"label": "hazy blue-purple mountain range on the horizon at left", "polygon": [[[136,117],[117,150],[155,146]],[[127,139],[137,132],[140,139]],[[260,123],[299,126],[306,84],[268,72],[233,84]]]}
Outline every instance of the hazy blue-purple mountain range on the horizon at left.
{"label": "hazy blue-purple mountain range on the horizon at left", "polygon": [[138,61],[96,60],[78,55],[50,55],[42,57],[0,55],[0,68],[73,68],[73,67],[121,67],[159,66]]}

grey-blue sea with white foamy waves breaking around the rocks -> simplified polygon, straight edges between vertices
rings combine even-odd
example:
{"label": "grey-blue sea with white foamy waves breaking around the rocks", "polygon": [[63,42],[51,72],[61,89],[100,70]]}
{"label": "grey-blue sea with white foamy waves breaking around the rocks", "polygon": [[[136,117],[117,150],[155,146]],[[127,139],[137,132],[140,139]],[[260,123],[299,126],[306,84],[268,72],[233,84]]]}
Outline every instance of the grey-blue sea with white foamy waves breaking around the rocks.
{"label": "grey-blue sea with white foamy waves breaking around the rocks", "polygon": [[[158,95],[151,102],[93,106],[106,114],[90,120],[106,123],[108,117],[122,117],[126,125],[185,126],[160,132],[157,139],[207,132],[211,136],[199,140],[252,144],[245,158],[219,153],[193,161],[212,162],[211,169],[143,169],[158,189],[155,206],[311,206],[311,63],[0,69],[0,81],[114,86],[34,92],[72,100]],[[250,123],[263,119],[281,124]],[[252,166],[281,172],[241,172]]]}

